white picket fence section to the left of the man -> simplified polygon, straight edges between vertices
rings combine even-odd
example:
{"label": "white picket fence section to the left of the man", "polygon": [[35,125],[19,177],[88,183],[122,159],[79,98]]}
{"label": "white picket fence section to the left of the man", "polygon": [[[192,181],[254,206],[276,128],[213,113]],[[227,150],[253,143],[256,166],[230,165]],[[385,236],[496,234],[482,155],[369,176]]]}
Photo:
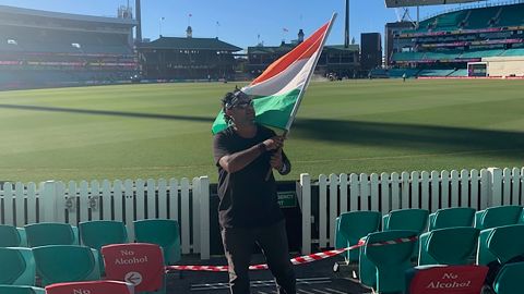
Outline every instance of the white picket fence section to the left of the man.
{"label": "white picket fence section to the left of the man", "polygon": [[78,225],[90,220],[123,221],[130,240],[133,221],[172,219],[180,224],[182,254],[210,257],[210,181],[207,176],[166,180],[4,183],[0,221],[23,226],[35,222]]}

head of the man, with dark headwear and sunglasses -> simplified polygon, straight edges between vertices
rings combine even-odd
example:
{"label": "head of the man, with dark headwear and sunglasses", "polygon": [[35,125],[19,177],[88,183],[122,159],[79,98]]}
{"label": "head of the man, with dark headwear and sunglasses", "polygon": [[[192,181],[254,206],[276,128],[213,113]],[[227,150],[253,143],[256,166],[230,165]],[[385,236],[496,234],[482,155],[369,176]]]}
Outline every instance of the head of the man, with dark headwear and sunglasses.
{"label": "head of the man, with dark headwear and sunglasses", "polygon": [[246,93],[236,88],[222,99],[224,119],[227,124],[246,124],[254,121],[253,100]]}

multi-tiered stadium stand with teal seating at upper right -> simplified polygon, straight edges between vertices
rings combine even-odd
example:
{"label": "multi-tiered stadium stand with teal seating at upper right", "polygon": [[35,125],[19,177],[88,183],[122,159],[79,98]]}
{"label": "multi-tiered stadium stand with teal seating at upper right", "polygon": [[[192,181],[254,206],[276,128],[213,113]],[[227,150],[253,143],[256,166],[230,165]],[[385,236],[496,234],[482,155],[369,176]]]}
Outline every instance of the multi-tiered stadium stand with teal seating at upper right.
{"label": "multi-tiered stadium stand with teal seating at upper right", "polygon": [[[393,36],[392,68],[416,68],[416,76],[467,76],[468,63],[524,57],[524,3],[495,3],[442,13]],[[400,77],[392,75],[390,77]],[[489,75],[489,71],[484,71]],[[473,75],[473,74],[472,74]],[[511,74],[509,74],[511,75]],[[476,75],[478,76],[478,75]]]}

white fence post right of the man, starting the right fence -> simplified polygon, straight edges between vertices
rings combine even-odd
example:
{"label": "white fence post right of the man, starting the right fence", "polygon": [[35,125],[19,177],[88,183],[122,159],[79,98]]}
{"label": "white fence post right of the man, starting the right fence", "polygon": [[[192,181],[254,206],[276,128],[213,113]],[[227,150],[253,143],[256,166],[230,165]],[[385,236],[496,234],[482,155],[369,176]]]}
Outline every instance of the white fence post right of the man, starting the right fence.
{"label": "white fence post right of the man, starting the right fence", "polygon": [[300,174],[300,204],[302,208],[302,254],[311,254],[311,176]]}

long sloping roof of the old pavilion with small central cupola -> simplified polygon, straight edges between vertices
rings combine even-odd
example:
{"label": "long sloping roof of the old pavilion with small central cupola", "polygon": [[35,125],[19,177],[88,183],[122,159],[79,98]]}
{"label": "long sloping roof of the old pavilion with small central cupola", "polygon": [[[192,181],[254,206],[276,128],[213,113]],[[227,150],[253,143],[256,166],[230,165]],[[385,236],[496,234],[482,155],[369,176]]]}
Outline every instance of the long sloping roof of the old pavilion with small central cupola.
{"label": "long sloping roof of the old pavilion with small central cupola", "polygon": [[160,37],[154,41],[141,44],[140,48],[223,50],[223,51],[242,50],[242,48],[222,41],[218,38],[187,38],[187,37]]}

